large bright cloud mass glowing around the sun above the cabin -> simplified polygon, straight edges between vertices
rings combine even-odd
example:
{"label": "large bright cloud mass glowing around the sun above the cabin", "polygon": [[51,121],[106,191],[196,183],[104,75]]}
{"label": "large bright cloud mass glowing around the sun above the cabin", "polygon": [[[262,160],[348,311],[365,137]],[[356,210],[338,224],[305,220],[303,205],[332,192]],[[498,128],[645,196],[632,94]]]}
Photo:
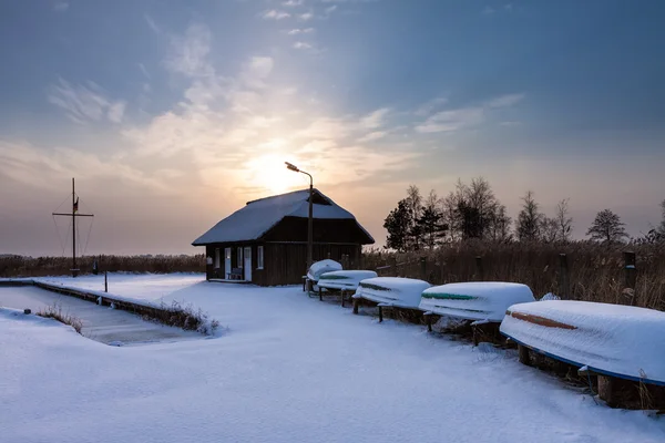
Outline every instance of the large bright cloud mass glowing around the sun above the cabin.
{"label": "large bright cloud mass glowing around the sun above the cabin", "polygon": [[[195,186],[238,199],[274,192],[273,175],[265,171],[277,174],[285,158],[311,169],[321,185],[367,181],[408,166],[400,161],[413,154],[401,147],[378,151],[357,142],[364,135],[380,138],[379,131],[366,133],[383,124],[387,109],[365,116],[326,112],[307,100],[307,91],[279,84],[273,75],[277,62],[265,55],[247,58],[234,75],[223,78],[211,60],[208,32],[194,24],[173,39],[166,60],[191,83],[171,110],[123,128],[129,158],[190,171]],[[351,158],[367,162],[349,167],[344,162]],[[299,177],[286,177],[285,183],[299,186]]]}

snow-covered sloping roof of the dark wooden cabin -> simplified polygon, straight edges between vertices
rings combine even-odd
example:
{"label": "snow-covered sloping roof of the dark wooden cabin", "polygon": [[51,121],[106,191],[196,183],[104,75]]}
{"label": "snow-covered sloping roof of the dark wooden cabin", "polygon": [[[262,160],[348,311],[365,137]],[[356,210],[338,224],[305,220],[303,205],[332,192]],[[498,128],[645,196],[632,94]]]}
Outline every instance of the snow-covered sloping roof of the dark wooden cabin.
{"label": "snow-covered sloping roof of the dark wooden cabin", "polygon": [[[351,219],[356,217],[318,189],[314,189],[313,217],[318,219]],[[307,218],[309,216],[309,189],[295,190],[247,202],[247,205],[224,218],[192,245],[211,243],[248,241],[260,238],[284,217]],[[321,202],[321,203],[317,203]],[[360,224],[369,238],[372,238]],[[372,238],[374,241],[374,238]]]}

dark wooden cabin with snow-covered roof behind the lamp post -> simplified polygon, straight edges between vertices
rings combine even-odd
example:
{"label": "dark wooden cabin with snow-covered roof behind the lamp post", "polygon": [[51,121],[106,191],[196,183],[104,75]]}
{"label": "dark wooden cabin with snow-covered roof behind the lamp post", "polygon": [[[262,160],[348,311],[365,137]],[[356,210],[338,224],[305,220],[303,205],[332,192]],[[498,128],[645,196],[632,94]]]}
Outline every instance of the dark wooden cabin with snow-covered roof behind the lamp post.
{"label": "dark wooden cabin with snow-covered roof behind the lamp post", "polygon": [[[375,243],[356,217],[314,189],[314,260],[357,266],[362,245]],[[241,279],[260,286],[299,284],[307,271],[309,189],[248,202],[198,237],[207,279]]]}

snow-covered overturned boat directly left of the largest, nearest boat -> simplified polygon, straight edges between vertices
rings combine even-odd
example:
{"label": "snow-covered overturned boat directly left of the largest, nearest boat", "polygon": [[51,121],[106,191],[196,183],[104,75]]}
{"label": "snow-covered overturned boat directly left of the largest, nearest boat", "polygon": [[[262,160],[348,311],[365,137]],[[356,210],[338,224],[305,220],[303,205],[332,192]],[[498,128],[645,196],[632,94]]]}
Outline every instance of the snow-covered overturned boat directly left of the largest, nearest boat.
{"label": "snow-covered overturned boat directly left of the largest, nearest boat", "polygon": [[511,305],[528,301],[534,298],[525,285],[477,281],[429,288],[422,292],[419,308],[440,316],[499,322]]}

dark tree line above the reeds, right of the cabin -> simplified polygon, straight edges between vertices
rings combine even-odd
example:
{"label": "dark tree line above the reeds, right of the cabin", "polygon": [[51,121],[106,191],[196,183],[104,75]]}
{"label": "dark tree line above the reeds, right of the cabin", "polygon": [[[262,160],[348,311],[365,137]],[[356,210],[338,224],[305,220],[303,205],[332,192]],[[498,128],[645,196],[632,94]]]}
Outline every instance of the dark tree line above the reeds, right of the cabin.
{"label": "dark tree line above the reeds, right of the cabin", "polygon": [[[663,220],[638,239],[638,243],[665,241],[665,200],[661,204]],[[494,196],[490,183],[483,177],[472,178],[469,184],[458,179],[446,197],[436,190],[422,196],[418,186],[411,185],[407,196],[383,222],[388,231],[386,247],[398,251],[434,249],[447,243],[480,239],[490,241],[571,241],[573,218],[569,198],[561,199],[552,217],[541,210],[532,190],[522,197],[516,219]],[[604,244],[623,243],[628,239],[625,224],[611,209],[597,213],[586,236]]]}

